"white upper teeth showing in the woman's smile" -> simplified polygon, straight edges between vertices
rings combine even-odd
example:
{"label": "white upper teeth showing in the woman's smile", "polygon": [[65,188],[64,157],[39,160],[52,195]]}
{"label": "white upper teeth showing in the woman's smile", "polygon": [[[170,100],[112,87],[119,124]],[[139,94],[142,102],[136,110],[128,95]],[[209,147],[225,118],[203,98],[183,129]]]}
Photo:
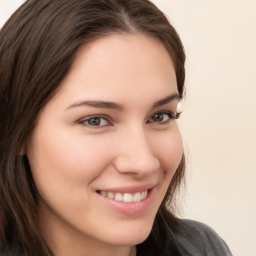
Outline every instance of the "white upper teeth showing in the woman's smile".
{"label": "white upper teeth showing in the woman's smile", "polygon": [[120,192],[110,192],[110,191],[104,191],[104,190],[98,190],[98,193],[100,193],[102,196],[106,196],[110,199],[116,200],[116,201],[123,201],[123,202],[139,202],[146,198],[147,196],[147,189],[145,189],[142,192],[136,192],[136,193],[120,193]]}

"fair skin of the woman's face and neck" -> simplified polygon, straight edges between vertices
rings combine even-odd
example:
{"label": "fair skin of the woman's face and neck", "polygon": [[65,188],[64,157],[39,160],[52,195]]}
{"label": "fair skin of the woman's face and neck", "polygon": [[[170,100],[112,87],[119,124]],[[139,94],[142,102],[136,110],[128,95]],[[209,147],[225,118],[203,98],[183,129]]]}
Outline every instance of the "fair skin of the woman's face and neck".
{"label": "fair skin of the woman's face and neck", "polygon": [[[55,256],[129,255],[148,236],[182,156],[171,58],[156,39],[113,34],[83,45],[38,119],[27,153],[40,194],[41,232]],[[111,101],[122,109],[80,104]],[[100,115],[100,125],[86,117]],[[98,120],[98,119],[97,119]],[[83,121],[83,122],[82,122]],[[153,184],[150,205],[124,214],[97,190]]]}

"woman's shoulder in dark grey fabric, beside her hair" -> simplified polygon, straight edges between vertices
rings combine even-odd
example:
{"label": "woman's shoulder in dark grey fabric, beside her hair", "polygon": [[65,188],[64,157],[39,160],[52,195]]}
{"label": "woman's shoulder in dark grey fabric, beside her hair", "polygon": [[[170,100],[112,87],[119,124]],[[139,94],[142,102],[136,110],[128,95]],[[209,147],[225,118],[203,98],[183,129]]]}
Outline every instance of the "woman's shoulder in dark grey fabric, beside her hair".
{"label": "woman's shoulder in dark grey fabric, beside her hair", "polygon": [[211,227],[198,221],[180,219],[176,238],[188,255],[232,255],[224,240]]}

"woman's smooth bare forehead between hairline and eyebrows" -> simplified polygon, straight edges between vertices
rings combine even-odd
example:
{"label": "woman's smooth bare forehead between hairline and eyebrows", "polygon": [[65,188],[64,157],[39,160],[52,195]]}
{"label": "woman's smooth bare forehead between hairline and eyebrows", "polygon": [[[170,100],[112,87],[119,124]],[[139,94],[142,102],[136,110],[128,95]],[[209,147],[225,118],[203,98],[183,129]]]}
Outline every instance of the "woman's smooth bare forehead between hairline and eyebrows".
{"label": "woman's smooth bare forehead between hairline and eyebrows", "polygon": [[92,96],[112,101],[125,99],[125,92],[143,95],[145,90],[159,98],[177,91],[168,51],[149,36],[112,34],[78,49],[58,93],[70,100]]}

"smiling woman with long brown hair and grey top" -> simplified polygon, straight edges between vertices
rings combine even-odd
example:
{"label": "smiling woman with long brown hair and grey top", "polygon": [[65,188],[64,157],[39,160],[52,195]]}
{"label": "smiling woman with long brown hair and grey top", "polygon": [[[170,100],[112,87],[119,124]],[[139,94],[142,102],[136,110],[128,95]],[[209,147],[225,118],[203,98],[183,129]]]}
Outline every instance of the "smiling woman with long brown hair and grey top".
{"label": "smiling woman with long brown hair and grey top", "polygon": [[0,31],[1,255],[231,255],[175,216],[182,43],[148,0],[27,0]]}

